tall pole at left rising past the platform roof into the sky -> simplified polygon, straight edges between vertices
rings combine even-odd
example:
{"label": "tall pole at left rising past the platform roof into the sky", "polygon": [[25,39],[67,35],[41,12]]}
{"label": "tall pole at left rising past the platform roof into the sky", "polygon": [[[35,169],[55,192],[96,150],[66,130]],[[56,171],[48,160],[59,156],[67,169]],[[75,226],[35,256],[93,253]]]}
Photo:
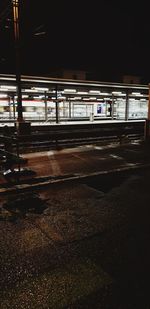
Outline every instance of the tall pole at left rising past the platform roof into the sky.
{"label": "tall pole at left rising past the platform roof into the sky", "polygon": [[20,72],[19,0],[12,0],[12,4],[13,4],[14,39],[16,49],[16,84],[17,84],[17,107],[18,107],[17,121],[22,122],[23,112],[22,112],[21,72]]}

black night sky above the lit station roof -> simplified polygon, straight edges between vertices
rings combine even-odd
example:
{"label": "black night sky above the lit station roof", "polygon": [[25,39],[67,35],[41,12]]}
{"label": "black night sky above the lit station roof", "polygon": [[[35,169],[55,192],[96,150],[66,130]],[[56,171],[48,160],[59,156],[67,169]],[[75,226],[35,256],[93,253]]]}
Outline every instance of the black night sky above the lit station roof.
{"label": "black night sky above the lit station roof", "polygon": [[[11,0],[0,3],[0,15],[11,8]],[[120,81],[130,74],[150,82],[150,18],[145,0],[21,0],[20,4],[22,73],[83,69],[101,81]],[[8,13],[11,18],[11,10]],[[0,72],[11,73],[15,70],[13,28],[5,20],[0,24]],[[35,36],[38,31],[46,34]]]}

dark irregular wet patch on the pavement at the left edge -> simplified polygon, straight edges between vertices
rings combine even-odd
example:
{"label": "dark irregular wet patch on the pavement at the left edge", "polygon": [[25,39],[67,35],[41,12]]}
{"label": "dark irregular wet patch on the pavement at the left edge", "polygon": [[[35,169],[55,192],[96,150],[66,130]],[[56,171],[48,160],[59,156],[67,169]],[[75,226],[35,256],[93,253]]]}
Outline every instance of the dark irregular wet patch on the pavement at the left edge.
{"label": "dark irregular wet patch on the pavement at the left edge", "polygon": [[16,221],[29,214],[42,214],[47,209],[47,200],[37,193],[22,193],[8,197],[0,210],[0,220]]}

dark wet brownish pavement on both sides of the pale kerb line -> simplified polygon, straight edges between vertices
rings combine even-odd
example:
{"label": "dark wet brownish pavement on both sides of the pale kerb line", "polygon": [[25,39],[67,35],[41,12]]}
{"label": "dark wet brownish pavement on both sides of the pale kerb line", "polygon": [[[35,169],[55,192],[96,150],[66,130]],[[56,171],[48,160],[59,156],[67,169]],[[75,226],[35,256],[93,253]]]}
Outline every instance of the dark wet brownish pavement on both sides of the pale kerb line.
{"label": "dark wet brownish pavement on both sides of the pale kerb line", "polygon": [[28,155],[37,177],[147,167],[111,174],[107,189],[102,178],[84,178],[0,195],[0,308],[150,308],[150,147],[50,154]]}

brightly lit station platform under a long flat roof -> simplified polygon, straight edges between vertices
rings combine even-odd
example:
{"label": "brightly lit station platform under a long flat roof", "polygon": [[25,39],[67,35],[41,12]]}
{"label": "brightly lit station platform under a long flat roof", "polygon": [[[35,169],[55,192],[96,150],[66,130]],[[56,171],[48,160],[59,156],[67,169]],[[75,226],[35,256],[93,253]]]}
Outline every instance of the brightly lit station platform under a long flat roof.
{"label": "brightly lit station platform under a long flat roof", "polygon": [[[21,77],[23,119],[30,122],[137,120],[148,115],[149,87]],[[16,79],[0,75],[0,121],[17,120]]]}

